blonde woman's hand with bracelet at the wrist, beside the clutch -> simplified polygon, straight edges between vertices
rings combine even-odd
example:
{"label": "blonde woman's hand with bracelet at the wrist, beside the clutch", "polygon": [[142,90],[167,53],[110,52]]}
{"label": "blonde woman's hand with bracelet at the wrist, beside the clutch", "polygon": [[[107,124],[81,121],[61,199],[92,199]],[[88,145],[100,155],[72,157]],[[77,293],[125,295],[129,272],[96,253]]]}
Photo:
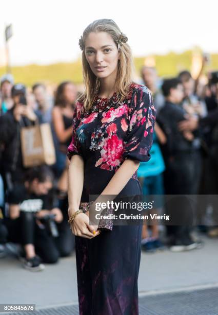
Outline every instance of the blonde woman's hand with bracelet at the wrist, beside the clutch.
{"label": "blonde woman's hand with bracelet at the wrist, beside the clutch", "polygon": [[94,226],[89,224],[89,217],[85,213],[79,213],[71,222],[71,227],[75,236],[91,239],[100,234],[99,230],[95,231]]}

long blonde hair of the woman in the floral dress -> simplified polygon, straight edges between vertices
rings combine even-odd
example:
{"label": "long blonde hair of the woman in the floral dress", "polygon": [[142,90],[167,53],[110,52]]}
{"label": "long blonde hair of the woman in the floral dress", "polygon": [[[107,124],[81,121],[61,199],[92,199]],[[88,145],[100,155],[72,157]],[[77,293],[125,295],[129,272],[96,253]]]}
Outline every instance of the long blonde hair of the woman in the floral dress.
{"label": "long blonde hair of the woman in the floral dress", "polygon": [[79,42],[79,45],[83,50],[82,64],[85,92],[80,96],[80,98],[78,98],[78,101],[82,101],[84,103],[86,110],[91,108],[96,91],[100,88],[100,80],[93,74],[85,56],[85,41],[90,32],[107,32],[117,45],[120,52],[120,60],[118,60],[115,91],[121,95],[120,101],[123,101],[127,96],[133,72],[132,53],[130,46],[127,44],[128,39],[124,36],[116,23],[113,20],[101,19],[89,24],[84,30],[83,36]]}

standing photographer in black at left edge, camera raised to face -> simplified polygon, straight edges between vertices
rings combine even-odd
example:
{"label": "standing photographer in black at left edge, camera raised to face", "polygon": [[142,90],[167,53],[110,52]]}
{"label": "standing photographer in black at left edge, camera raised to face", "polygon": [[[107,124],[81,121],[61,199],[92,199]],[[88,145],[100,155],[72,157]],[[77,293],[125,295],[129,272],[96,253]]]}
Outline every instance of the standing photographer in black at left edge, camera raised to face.
{"label": "standing photographer in black at left edge, camera raised to face", "polygon": [[9,190],[13,189],[15,182],[21,182],[25,170],[21,152],[21,128],[33,125],[37,118],[27,104],[23,84],[15,84],[11,95],[13,107],[0,117],[1,173],[5,188]]}

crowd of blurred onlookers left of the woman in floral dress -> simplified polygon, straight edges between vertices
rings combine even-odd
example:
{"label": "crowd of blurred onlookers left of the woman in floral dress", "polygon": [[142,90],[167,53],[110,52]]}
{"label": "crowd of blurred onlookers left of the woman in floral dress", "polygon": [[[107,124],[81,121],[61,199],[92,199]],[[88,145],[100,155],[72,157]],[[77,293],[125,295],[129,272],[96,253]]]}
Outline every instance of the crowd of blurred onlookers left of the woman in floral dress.
{"label": "crowd of blurred onlookers left of the woman in floral dress", "polygon": [[[76,86],[62,82],[55,95],[46,86],[14,84],[11,75],[1,79],[1,254],[4,244],[21,244],[19,259],[29,270],[43,270],[59,257],[71,255],[74,237],[68,224],[67,148],[72,135]],[[49,124],[56,163],[26,168],[21,130]],[[10,246],[9,246],[10,249]]]}

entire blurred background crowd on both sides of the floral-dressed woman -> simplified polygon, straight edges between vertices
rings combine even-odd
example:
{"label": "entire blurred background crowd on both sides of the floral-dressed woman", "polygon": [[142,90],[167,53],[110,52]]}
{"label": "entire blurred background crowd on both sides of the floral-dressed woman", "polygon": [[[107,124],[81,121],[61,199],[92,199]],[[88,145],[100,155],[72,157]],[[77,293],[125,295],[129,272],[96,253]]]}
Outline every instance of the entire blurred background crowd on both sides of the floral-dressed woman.
{"label": "entire blurred background crowd on both sides of the floral-dressed woman", "polygon": [[[160,79],[154,67],[144,66],[141,80],[153,95],[157,110],[151,159],[142,162],[138,179],[144,195],[218,194],[218,72],[208,74],[202,85],[188,71],[177,77]],[[21,245],[18,253],[23,266],[43,270],[43,263],[57,263],[72,254],[74,237],[68,225],[67,148],[72,136],[72,117],[79,95],[71,81],[59,84],[51,95],[46,85],[36,83],[27,89],[14,84],[10,74],[1,78],[0,94],[0,257],[10,243]],[[56,162],[26,168],[21,148],[21,130],[49,124]],[[75,179],[76,180],[76,179]],[[155,213],[173,211],[189,217],[190,209],[180,202],[166,206],[157,199]],[[201,199],[202,200],[202,199]],[[217,237],[216,199],[196,201],[194,211],[199,230]],[[206,226],[208,206],[213,226]],[[193,238],[193,224],[160,226],[144,224],[142,249],[186,251],[199,248]]]}

